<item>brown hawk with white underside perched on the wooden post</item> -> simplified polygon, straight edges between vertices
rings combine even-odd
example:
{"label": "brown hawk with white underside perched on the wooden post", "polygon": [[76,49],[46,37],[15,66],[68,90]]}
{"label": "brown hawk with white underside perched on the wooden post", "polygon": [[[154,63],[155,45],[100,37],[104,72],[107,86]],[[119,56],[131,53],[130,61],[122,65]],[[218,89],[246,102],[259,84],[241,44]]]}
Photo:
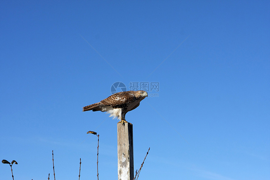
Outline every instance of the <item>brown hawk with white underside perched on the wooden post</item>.
{"label": "brown hawk with white underside perched on the wooden post", "polygon": [[110,117],[120,119],[121,121],[118,123],[127,123],[126,113],[138,107],[140,101],[147,96],[148,94],[144,90],[118,92],[100,102],[84,106],[83,111],[106,112],[110,114]]}

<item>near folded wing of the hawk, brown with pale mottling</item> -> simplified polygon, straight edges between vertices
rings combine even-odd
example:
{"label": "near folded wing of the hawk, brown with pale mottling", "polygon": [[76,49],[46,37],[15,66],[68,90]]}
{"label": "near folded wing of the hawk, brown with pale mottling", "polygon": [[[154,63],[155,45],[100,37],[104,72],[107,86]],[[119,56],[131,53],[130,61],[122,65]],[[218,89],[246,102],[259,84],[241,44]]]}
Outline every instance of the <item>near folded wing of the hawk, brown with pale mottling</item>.
{"label": "near folded wing of the hawk, brown with pale mottling", "polygon": [[127,104],[135,99],[134,91],[125,91],[115,93],[106,99],[100,101],[105,106],[116,106]]}

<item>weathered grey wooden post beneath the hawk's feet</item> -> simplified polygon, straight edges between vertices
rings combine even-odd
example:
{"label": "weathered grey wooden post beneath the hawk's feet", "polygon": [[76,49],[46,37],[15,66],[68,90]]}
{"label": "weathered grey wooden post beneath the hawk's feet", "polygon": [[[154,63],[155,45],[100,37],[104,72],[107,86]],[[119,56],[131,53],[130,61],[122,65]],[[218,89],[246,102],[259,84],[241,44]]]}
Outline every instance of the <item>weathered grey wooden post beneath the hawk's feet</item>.
{"label": "weathered grey wooden post beneath the hawk's feet", "polygon": [[118,180],[133,180],[133,126],[117,123]]}

